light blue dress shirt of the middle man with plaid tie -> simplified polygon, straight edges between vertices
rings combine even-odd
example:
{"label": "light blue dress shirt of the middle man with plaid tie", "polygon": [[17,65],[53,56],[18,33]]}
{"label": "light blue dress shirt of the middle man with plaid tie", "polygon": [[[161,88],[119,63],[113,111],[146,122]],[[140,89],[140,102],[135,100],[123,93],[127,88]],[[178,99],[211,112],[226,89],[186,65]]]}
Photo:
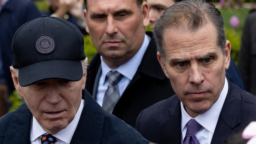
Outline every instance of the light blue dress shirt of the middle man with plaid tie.
{"label": "light blue dress shirt of the middle man with plaid tie", "polygon": [[117,86],[119,89],[119,95],[123,94],[125,91],[126,87],[129,85],[131,80],[133,79],[133,76],[135,75],[143,55],[145,54],[145,51],[147,50],[147,46],[149,45],[149,38],[145,34],[144,41],[142,43],[141,48],[138,50],[138,52],[126,63],[122,64],[119,66],[117,69],[111,69],[109,66],[106,65],[106,63],[103,61],[102,56],[101,56],[101,77],[99,79],[99,86],[98,86],[98,91],[97,91],[97,98],[96,101],[100,106],[102,106],[103,103],[103,98],[105,95],[105,92],[107,90],[107,86],[109,84],[109,81],[106,77],[107,73],[109,71],[118,71],[123,75],[121,80],[118,82]]}

